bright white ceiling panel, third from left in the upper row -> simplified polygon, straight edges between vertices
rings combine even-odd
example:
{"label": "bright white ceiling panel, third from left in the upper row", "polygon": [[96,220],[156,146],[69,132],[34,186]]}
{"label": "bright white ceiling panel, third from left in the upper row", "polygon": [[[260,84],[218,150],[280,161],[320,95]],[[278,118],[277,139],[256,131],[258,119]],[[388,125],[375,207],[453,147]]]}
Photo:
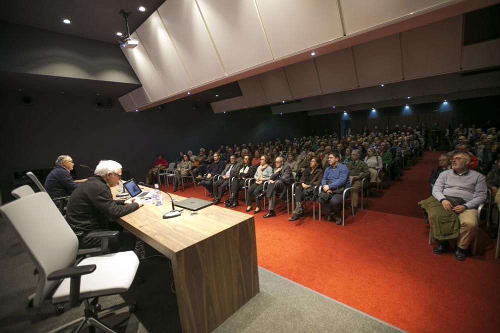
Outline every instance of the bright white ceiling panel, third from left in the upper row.
{"label": "bright white ceiling panel, third from left in the upper row", "polygon": [[225,76],[194,0],[165,1],[158,13],[195,86]]}

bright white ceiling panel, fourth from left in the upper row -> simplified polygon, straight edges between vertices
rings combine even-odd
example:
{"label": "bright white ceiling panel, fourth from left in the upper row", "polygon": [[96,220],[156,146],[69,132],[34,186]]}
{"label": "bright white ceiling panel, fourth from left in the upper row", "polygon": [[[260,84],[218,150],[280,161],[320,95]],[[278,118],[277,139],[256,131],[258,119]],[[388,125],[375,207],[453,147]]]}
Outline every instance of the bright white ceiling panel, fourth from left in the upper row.
{"label": "bright white ceiling panel, fourth from left in the upper row", "polygon": [[272,60],[253,1],[198,0],[227,74]]}

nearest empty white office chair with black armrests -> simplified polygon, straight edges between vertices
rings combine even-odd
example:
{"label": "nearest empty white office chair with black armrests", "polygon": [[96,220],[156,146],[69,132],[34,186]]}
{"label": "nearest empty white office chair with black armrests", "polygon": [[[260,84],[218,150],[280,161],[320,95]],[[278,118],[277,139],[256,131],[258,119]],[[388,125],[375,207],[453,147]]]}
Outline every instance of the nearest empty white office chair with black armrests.
{"label": "nearest empty white office chair with black armrests", "polygon": [[[85,304],[84,317],[51,332],[61,332],[85,324],[104,332],[113,331],[98,320],[98,315],[109,314],[125,306],[135,310],[132,301],[98,311],[98,298],[126,292],[137,271],[139,261],[132,252],[121,252],[83,259],[74,266],[78,240],[66,221],[51,204],[47,193],[38,192],[14,200],[0,207],[0,213],[13,228],[20,243],[39,273],[33,306],[40,307],[48,298],[53,304],[69,302],[78,307]],[[89,303],[88,299],[93,300]],[[63,308],[62,308],[63,309]]]}

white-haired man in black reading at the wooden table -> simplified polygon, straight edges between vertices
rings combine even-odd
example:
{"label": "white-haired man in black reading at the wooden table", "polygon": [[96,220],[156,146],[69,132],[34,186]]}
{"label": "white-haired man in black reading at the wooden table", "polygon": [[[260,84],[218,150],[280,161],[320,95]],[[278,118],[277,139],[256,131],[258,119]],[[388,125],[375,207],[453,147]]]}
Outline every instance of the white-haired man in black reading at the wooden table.
{"label": "white-haired man in black reading at the wooden table", "polygon": [[[100,240],[86,234],[98,230],[121,230],[114,220],[137,210],[142,204],[113,200],[110,188],[121,180],[121,165],[115,161],[100,161],[94,175],[81,183],[69,197],[66,221],[73,230],[84,231],[83,247],[98,246]],[[133,200],[132,200],[133,201]],[[120,234],[122,238],[123,233]],[[111,242],[110,242],[111,244]]]}

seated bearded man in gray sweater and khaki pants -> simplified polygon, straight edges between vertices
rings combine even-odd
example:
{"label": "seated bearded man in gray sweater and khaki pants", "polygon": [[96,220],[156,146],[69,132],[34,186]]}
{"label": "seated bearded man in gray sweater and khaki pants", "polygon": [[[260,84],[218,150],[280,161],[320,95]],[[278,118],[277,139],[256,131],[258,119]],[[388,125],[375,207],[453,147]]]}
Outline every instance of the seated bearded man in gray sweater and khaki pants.
{"label": "seated bearded man in gray sweater and khaki pants", "polygon": [[[432,188],[432,196],[448,212],[458,214],[460,234],[456,240],[456,260],[465,260],[465,250],[477,233],[477,207],[486,200],[486,181],[483,175],[470,170],[470,156],[455,153],[451,158],[451,170],[443,171]],[[435,254],[445,253],[448,241],[440,241],[432,250]]]}

